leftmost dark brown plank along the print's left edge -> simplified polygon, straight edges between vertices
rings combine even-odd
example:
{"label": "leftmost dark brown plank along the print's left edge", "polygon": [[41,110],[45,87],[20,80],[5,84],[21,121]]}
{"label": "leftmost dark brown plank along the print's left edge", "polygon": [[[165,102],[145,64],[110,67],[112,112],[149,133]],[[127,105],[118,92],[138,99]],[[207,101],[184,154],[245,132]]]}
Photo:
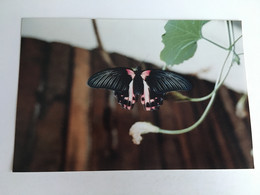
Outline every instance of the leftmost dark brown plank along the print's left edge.
{"label": "leftmost dark brown plank along the print's left edge", "polygon": [[[42,69],[48,59],[49,45],[44,41],[22,38],[16,111],[14,171],[28,171],[35,145],[35,120],[42,82]],[[38,102],[38,103],[37,103]]]}

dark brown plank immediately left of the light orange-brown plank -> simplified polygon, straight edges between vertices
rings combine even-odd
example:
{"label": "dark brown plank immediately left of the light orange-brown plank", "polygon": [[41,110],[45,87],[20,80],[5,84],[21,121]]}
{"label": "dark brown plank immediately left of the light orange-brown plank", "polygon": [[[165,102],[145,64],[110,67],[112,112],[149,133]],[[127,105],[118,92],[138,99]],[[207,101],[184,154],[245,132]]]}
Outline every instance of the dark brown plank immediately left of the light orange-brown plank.
{"label": "dark brown plank immediately left of the light orange-brown plank", "polygon": [[48,64],[45,64],[45,89],[41,98],[42,115],[36,124],[37,143],[31,171],[63,169],[64,134],[71,77],[72,48],[61,43],[50,43]]}

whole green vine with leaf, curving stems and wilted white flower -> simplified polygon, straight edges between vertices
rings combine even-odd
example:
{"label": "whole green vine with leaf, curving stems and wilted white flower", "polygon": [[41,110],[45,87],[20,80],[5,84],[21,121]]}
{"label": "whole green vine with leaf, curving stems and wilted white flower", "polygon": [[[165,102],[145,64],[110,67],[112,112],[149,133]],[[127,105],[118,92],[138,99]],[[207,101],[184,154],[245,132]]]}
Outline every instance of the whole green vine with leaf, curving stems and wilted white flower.
{"label": "whole green vine with leaf, curving stems and wilted white flower", "polygon": [[[180,64],[184,60],[188,60],[189,58],[193,57],[196,48],[197,48],[197,41],[199,39],[205,40],[220,49],[228,51],[226,58],[223,62],[221,67],[219,76],[215,82],[215,86],[213,91],[200,98],[190,98],[187,96],[183,96],[177,92],[174,92],[175,96],[178,96],[178,101],[190,101],[190,102],[201,102],[205,100],[209,100],[207,107],[205,108],[201,117],[191,126],[179,129],[179,130],[166,130],[161,129],[157,126],[152,125],[151,123],[147,122],[137,122],[130,128],[129,134],[133,137],[133,142],[135,144],[140,144],[142,140],[142,134],[146,133],[163,133],[163,134],[183,134],[194,130],[198,127],[206,118],[210,108],[213,105],[215,96],[219,88],[223,85],[225,79],[227,78],[232,66],[234,63],[240,64],[240,57],[236,53],[236,43],[242,38],[242,35],[235,39],[234,35],[234,27],[233,22],[227,21],[227,31],[228,31],[228,39],[229,39],[229,47],[226,48],[214,41],[204,37],[202,35],[201,29],[204,24],[208,21],[168,21],[165,25],[166,33],[162,36],[163,43],[165,44],[165,48],[161,52],[161,59],[165,61],[166,65],[163,69],[166,69],[167,66]],[[182,39],[180,39],[180,37]],[[232,56],[231,63],[228,66],[226,73],[224,74],[224,69],[227,66],[227,61]],[[245,98],[243,98],[244,100]]]}

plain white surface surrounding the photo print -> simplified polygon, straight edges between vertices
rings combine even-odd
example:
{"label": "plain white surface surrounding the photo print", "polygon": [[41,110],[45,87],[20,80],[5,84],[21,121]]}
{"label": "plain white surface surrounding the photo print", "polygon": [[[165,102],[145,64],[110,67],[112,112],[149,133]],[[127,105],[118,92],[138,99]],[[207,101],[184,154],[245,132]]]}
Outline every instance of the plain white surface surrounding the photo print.
{"label": "plain white surface surrounding the photo print", "polygon": [[[57,0],[0,2],[0,194],[260,194],[260,2]],[[254,170],[12,173],[21,18],[238,19],[243,41]]]}

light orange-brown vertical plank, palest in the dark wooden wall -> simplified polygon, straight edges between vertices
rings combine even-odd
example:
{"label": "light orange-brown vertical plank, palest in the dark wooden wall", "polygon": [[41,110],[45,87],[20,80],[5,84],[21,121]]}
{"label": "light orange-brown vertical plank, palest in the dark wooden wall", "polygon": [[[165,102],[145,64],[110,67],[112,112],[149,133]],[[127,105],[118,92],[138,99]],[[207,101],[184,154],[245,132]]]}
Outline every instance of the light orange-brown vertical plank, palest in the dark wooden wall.
{"label": "light orange-brown vertical plank, palest in the dark wooden wall", "polygon": [[90,54],[75,48],[74,70],[70,98],[69,125],[65,170],[83,171],[87,168],[89,152]]}

